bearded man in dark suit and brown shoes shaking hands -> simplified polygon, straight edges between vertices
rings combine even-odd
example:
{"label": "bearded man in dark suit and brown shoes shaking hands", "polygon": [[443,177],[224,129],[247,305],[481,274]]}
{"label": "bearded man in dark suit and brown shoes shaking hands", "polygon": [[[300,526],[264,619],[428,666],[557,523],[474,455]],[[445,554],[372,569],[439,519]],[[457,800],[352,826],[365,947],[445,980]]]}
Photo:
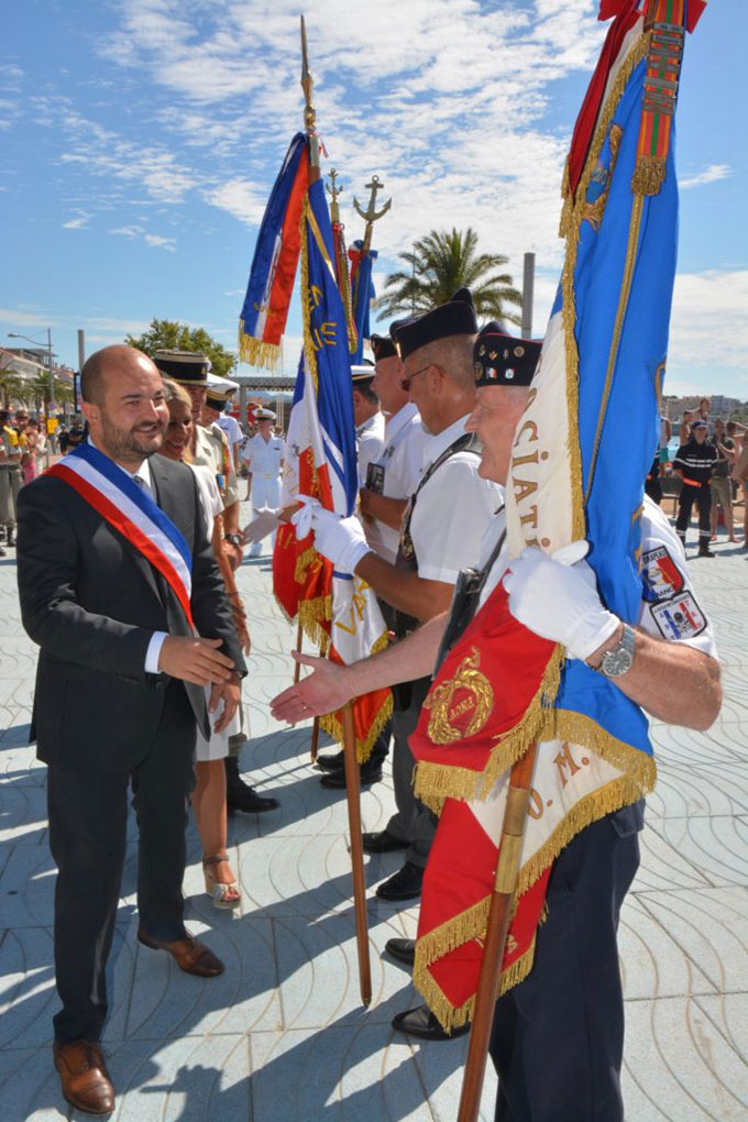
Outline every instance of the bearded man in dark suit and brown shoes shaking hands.
{"label": "bearded man in dark suit and brown shoes shaking hands", "polygon": [[[219,730],[231,720],[246,666],[194,475],[164,457],[149,459],[168,423],[158,369],[131,347],[108,347],[83,367],[82,394],[93,445],[82,451],[113,480],[114,504],[102,513],[95,496],[73,486],[67,465],[75,456],[57,475],[53,469],[24,488],[18,582],[24,626],[41,649],[33,736],[48,764],[49,846],[59,871],[55,967],[63,1008],[54,1019],[55,1064],[67,1101],[104,1114],[114,1093],[98,1041],[128,787],[140,835],[138,939],[167,950],[186,973],[221,974],[223,964],[183,922],[186,806],[196,727],[210,735],[211,720]],[[197,635],[186,598],[181,604],[173,581],[112,523],[118,496],[121,508],[128,489],[140,497],[133,484],[149,497],[141,499],[146,512],[166,515],[167,533],[186,542]]]}

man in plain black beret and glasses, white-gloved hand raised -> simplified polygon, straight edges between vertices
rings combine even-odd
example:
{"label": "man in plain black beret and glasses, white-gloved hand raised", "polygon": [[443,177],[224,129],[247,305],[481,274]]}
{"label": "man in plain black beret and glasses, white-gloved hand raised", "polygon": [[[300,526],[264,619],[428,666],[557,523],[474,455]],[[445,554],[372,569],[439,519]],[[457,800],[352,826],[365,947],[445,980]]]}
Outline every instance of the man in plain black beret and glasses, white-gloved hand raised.
{"label": "man in plain black beret and glasses, white-gloved hand raised", "polygon": [[[357,517],[340,519],[315,506],[315,549],[341,572],[355,573],[389,605],[398,640],[419,622],[444,611],[460,570],[478,552],[501,495],[478,477],[480,452],[465,421],[475,404],[472,344],[478,330],[467,288],[425,315],[393,325],[403,362],[400,386],[421,413],[428,433],[423,472],[403,519],[395,563],[373,552]],[[413,792],[414,732],[431,677],[395,691],[393,778],[397,812],[384,830],[363,835],[366,853],[403,849],[403,867],[377,889],[382,900],[421,895],[424,868],[436,826],[435,816]],[[330,709],[325,709],[329,712]]]}

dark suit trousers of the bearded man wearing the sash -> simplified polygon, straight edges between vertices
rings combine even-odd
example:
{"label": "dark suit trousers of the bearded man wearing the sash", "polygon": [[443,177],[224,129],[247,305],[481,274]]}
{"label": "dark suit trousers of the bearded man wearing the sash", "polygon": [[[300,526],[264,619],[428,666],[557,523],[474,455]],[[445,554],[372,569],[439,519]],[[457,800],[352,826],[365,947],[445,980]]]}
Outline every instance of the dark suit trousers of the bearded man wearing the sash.
{"label": "dark suit trousers of the bearded man wearing the sash", "polygon": [[173,681],[155,741],[144,745],[144,758],[131,773],[49,767],[49,848],[58,868],[55,974],[63,1008],[54,1024],[59,1043],[99,1040],[107,1018],[105,968],[124,866],[130,785],[139,830],[140,925],[155,939],[184,937],[182,879],[194,751],[192,707],[182,682]]}

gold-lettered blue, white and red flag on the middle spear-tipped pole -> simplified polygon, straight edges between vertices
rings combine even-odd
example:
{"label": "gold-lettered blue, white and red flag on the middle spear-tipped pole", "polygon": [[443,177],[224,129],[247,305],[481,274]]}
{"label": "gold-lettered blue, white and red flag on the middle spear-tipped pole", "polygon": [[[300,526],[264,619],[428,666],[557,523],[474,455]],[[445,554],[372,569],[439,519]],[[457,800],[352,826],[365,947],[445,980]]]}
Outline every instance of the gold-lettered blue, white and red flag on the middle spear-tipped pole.
{"label": "gold-lettered blue, white and red flag on the middle spear-tipped pole", "polygon": [[[320,180],[310,185],[302,217],[302,312],[304,353],[288,422],[285,502],[308,495],[348,516],[359,487],[351,356]],[[276,596],[286,610],[295,607],[305,633],[330,659],[348,665],[386,645],[387,628],[371,589],[359,577],[335,572],[315,552],[311,533],[296,541],[292,526],[281,527],[273,569]],[[389,690],[353,702],[359,761],[368,758],[390,711]],[[322,717],[321,724],[332,736],[342,737],[338,714]]]}

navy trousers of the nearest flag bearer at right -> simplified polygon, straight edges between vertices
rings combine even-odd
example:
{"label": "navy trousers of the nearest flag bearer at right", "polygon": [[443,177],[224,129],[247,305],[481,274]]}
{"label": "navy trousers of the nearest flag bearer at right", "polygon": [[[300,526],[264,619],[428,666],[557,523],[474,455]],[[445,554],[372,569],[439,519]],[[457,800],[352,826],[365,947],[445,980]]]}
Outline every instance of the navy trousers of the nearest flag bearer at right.
{"label": "navy trousers of the nearest flag bearer at right", "polygon": [[622,1122],[617,930],[643,825],[643,803],[608,815],[553,867],[533,969],[496,1005],[496,1122]]}

